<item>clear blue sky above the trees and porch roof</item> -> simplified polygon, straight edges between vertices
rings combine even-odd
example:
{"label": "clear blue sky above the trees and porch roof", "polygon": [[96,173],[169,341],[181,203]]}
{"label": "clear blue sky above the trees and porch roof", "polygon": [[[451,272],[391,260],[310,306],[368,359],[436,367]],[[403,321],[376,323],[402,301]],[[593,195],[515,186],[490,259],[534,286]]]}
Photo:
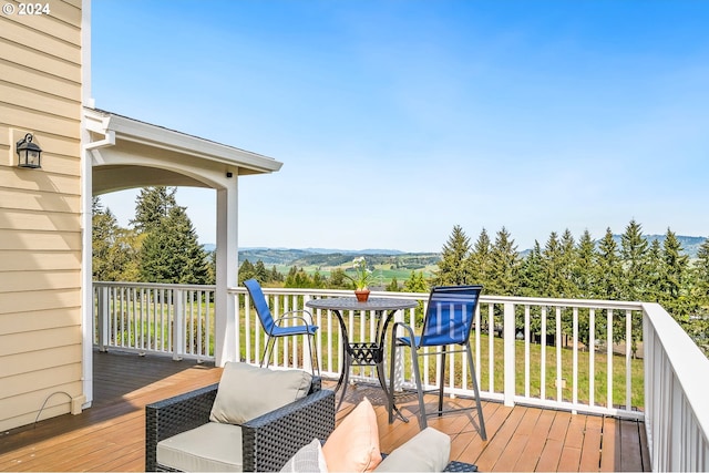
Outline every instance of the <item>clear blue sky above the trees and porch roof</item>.
{"label": "clear blue sky above the trees and porch roof", "polygon": [[[284,163],[239,246],[708,236],[709,2],[92,2],[96,106]],[[133,193],[102,197],[123,225]],[[181,188],[202,243],[212,191]]]}

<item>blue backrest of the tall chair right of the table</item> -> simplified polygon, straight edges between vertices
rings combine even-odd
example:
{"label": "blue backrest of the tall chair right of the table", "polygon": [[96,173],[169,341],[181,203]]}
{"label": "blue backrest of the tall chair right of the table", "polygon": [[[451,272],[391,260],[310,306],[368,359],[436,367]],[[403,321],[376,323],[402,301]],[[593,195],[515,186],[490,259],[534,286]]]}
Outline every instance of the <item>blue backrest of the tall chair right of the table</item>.
{"label": "blue backrest of the tall chair right of the table", "polygon": [[431,289],[421,346],[463,345],[473,328],[482,286],[440,286]]}

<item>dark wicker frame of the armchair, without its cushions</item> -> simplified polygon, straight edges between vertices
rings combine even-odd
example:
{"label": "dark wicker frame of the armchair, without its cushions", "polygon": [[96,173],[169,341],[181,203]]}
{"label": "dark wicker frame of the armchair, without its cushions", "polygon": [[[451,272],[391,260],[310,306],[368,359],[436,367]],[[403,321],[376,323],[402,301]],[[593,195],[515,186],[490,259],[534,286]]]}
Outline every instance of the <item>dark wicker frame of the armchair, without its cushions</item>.
{"label": "dark wicker frame of the armchair, without its cushions", "polygon": [[[158,442],[209,422],[218,384],[145,408],[145,471],[175,471],[157,462]],[[308,395],[240,424],[244,471],[278,471],[312,439],[335,429],[335,392],[314,378]]]}

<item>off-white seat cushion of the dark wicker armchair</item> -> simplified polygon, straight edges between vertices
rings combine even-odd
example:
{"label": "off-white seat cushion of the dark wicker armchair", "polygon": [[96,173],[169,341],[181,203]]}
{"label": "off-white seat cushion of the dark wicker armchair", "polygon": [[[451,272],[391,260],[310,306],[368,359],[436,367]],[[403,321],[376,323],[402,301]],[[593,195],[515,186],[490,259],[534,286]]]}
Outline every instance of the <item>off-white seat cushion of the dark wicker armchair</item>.
{"label": "off-white seat cushion of the dark wicker armchair", "polygon": [[240,472],[242,428],[208,422],[157,444],[157,463],[184,472]]}

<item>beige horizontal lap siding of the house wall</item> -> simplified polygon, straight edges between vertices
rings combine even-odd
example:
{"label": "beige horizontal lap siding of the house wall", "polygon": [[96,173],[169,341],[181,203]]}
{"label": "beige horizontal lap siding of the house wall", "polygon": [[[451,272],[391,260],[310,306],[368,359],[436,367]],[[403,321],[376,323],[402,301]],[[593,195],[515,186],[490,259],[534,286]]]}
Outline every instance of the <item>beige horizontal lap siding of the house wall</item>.
{"label": "beige horizontal lap siding of the house wall", "polygon": [[[81,0],[0,14],[0,432],[82,392]],[[44,4],[44,2],[42,2]],[[17,167],[27,132],[41,169]],[[70,398],[73,400],[70,401]]]}

